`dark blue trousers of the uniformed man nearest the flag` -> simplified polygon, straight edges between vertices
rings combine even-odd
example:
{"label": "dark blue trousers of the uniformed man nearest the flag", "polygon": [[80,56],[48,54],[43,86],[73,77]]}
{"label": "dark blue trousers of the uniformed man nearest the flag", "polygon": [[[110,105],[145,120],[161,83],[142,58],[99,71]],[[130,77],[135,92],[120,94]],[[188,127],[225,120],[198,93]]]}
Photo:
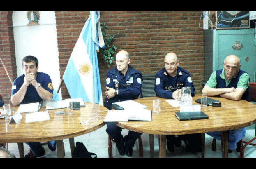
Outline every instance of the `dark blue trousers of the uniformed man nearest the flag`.
{"label": "dark blue trousers of the uniformed man nearest the flag", "polygon": [[[114,122],[107,122],[107,133],[110,135],[111,138],[115,140],[119,140],[123,138],[123,135],[121,135],[122,128],[118,127]],[[134,146],[136,140],[139,138],[139,136],[142,135],[142,133],[138,133],[135,131],[128,132],[128,135],[126,136],[126,139],[124,140],[125,146],[131,148]]]}

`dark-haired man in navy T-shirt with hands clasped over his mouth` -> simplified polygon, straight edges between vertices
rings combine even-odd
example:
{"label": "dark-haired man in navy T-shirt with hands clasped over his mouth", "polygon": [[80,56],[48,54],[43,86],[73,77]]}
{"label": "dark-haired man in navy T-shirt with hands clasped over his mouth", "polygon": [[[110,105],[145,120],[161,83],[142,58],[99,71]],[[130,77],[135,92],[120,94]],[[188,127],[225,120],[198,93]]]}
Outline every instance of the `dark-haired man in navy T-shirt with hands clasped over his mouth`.
{"label": "dark-haired man in navy T-shirt with hands clasped over his mouth", "polygon": [[[22,69],[24,74],[17,77],[12,85],[12,105],[25,104],[30,102],[41,102],[42,100],[51,100],[53,87],[52,80],[49,75],[37,72],[38,60],[36,57],[28,55],[22,60]],[[35,157],[45,154],[44,148],[39,142],[27,143]],[[48,142],[50,150],[56,150],[56,142]],[[28,153],[25,158],[30,158]]]}

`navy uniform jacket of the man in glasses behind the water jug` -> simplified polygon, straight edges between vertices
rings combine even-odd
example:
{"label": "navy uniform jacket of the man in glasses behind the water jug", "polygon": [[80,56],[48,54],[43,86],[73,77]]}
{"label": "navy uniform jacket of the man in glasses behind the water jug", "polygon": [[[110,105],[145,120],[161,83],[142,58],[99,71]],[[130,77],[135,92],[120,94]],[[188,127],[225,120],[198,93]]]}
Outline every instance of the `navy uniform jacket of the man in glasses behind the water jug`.
{"label": "navy uniform jacket of the man in glasses behind the water jug", "polygon": [[[164,72],[166,72],[167,76],[164,75]],[[176,89],[170,90],[170,86]],[[165,68],[156,73],[155,92],[158,97],[173,99],[172,93],[174,91],[187,86],[191,87],[191,96],[195,96],[195,86],[191,80],[190,73],[185,69],[178,67],[175,77],[171,77]]]}

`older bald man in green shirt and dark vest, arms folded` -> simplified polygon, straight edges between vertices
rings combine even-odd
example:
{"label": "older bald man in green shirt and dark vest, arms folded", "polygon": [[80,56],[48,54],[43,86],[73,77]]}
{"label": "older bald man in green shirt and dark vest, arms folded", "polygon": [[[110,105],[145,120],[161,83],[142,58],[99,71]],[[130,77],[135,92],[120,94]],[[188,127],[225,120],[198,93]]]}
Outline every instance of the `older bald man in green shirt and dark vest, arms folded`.
{"label": "older bald man in green shirt and dark vest, arms folded", "polygon": [[[241,61],[235,55],[229,55],[223,62],[224,69],[216,70],[212,73],[202,92],[207,92],[207,96],[216,96],[231,100],[251,101],[249,93],[249,75],[240,70]],[[240,152],[241,139],[245,136],[246,129],[229,130],[228,152]],[[218,140],[221,140],[220,132],[206,133]]]}

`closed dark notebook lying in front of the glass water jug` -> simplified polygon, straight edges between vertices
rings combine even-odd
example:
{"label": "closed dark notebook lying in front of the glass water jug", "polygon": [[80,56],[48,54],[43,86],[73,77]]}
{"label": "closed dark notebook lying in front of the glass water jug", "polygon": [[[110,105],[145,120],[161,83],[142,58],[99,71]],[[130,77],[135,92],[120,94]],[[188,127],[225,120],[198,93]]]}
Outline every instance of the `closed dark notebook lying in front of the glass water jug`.
{"label": "closed dark notebook lying in front of the glass water jug", "polygon": [[175,114],[179,121],[209,119],[204,112],[176,112]]}

